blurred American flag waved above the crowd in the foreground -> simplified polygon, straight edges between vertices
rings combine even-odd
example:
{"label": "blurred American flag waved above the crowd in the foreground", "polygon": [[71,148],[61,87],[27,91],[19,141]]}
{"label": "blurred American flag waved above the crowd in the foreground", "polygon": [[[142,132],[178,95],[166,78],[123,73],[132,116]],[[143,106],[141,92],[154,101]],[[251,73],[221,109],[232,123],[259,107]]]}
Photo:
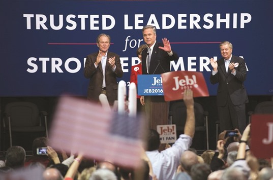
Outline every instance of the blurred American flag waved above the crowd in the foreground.
{"label": "blurred American flag waved above the crowd in the foreground", "polygon": [[51,125],[50,146],[134,168],[143,151],[142,125],[142,118],[117,115],[98,104],[63,96]]}

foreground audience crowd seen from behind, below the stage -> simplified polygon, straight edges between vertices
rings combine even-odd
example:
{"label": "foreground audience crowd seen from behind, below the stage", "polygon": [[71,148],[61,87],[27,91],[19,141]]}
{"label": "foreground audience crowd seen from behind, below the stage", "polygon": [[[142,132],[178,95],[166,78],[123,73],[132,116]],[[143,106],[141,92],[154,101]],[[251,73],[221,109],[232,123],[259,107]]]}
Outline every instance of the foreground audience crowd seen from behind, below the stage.
{"label": "foreground audience crowd seen from behind, below the stage", "polygon": [[[187,119],[184,134],[172,146],[159,151],[160,137],[156,130],[147,132],[147,147],[140,157],[139,168],[128,168],[105,160],[94,160],[81,153],[56,152],[48,146],[49,139],[33,141],[33,156],[26,159],[25,150],[10,147],[5,162],[1,161],[0,179],[273,179],[273,160],[257,159],[251,153],[249,124],[241,134],[226,137],[219,134],[217,150],[198,155],[190,148],[195,133],[194,100],[192,90],[185,90]],[[37,148],[47,147],[46,155]],[[90,147],[92,148],[92,146]],[[111,151],[111,150],[109,150]],[[269,151],[269,150],[268,150]],[[25,172],[24,175],[22,170]],[[15,176],[13,176],[15,174]],[[17,174],[17,176],[16,176]],[[14,177],[14,178],[13,178]]]}

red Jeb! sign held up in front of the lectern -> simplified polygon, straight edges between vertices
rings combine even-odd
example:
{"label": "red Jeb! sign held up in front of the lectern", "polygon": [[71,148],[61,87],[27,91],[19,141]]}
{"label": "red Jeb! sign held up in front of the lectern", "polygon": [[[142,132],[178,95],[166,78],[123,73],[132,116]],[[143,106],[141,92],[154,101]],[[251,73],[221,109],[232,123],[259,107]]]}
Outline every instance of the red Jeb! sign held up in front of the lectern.
{"label": "red Jeb! sign held up in front of the lectern", "polygon": [[209,96],[204,76],[194,71],[171,71],[161,74],[165,101],[183,99],[185,89],[194,97]]}

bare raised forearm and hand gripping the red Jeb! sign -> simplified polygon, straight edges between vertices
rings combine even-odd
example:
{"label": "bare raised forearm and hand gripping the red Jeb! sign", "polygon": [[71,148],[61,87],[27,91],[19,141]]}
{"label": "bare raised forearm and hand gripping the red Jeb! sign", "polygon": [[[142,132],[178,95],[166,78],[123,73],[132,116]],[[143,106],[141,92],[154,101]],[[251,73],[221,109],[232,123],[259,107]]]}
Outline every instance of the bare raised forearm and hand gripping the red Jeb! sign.
{"label": "bare raised forearm and hand gripping the red Jeb! sign", "polygon": [[195,115],[193,91],[191,89],[185,89],[184,103],[187,107],[187,119],[185,123],[184,134],[187,134],[193,138],[195,132]]}

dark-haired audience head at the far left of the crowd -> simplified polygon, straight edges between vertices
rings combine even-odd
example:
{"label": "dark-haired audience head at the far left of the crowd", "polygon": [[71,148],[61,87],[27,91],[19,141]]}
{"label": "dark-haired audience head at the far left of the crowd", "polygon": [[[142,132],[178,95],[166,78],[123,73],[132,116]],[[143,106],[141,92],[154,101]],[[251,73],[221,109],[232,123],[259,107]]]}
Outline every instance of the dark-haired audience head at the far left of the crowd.
{"label": "dark-haired audience head at the far left of the crowd", "polygon": [[20,146],[13,146],[7,150],[6,166],[11,168],[23,167],[25,162],[25,151]]}

